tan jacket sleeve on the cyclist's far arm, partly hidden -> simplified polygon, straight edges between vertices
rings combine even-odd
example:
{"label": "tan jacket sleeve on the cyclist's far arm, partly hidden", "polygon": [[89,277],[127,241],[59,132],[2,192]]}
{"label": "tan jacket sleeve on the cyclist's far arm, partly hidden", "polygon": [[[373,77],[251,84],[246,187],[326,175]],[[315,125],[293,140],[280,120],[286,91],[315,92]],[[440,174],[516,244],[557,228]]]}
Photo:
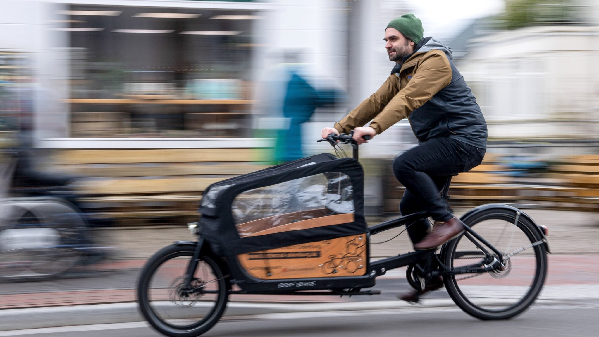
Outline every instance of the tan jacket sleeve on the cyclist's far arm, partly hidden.
{"label": "tan jacket sleeve on the cyclist's far arm, partly hidden", "polygon": [[389,76],[379,90],[362,101],[356,109],[353,109],[341,121],[335,123],[334,128],[340,133],[349,133],[354,128],[363,127],[364,124],[378,115],[400,91],[399,83],[400,81],[395,74]]}

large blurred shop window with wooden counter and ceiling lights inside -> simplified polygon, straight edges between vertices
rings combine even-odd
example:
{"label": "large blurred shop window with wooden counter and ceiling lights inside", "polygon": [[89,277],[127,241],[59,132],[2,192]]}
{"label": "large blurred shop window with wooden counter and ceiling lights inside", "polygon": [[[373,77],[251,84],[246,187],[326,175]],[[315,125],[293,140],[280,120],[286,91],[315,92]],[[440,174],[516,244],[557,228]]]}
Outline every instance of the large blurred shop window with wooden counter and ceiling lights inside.
{"label": "large blurred shop window with wooden counter and ceiling lights inside", "polygon": [[[91,15],[102,11],[102,15]],[[71,5],[71,137],[247,137],[257,11]]]}

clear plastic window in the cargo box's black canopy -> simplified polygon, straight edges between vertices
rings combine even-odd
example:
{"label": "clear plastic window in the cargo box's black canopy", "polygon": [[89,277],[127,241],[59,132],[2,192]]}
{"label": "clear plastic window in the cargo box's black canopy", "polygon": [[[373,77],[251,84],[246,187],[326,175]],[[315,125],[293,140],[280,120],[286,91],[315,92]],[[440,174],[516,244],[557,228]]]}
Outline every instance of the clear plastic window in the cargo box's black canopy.
{"label": "clear plastic window in the cargo box's black canopy", "polygon": [[[308,219],[353,215],[355,212],[351,180],[347,174],[339,172],[250,189],[237,195],[231,209],[240,236]],[[327,222],[320,222],[320,225],[327,225]],[[297,226],[294,229],[298,229]]]}

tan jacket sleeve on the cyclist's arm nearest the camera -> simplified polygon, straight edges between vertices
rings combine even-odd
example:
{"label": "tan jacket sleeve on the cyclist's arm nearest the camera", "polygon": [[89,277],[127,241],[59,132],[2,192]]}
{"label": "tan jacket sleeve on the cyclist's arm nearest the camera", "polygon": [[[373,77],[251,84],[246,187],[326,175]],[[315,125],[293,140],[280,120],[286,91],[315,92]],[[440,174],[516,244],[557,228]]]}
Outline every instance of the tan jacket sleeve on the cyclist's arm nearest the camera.
{"label": "tan jacket sleeve on the cyclist's arm nearest the camera", "polygon": [[375,114],[370,127],[377,134],[406,118],[451,82],[452,71],[447,56],[441,50],[427,53],[408,84]]}

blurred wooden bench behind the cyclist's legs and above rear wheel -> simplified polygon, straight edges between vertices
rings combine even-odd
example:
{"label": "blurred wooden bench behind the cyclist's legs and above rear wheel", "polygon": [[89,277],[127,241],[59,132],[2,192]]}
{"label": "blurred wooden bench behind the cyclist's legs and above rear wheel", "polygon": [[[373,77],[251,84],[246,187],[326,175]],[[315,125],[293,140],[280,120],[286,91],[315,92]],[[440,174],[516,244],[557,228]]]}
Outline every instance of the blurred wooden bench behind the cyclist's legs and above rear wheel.
{"label": "blurred wooden bench behind the cyclist's legs and above rear wheel", "polygon": [[[450,204],[477,206],[483,203],[514,203],[526,207],[566,210],[599,210],[599,155],[556,158],[536,180],[510,177],[498,158],[486,155],[483,164],[452,178]],[[397,212],[403,195],[395,177],[388,177],[391,192],[385,211]]]}

